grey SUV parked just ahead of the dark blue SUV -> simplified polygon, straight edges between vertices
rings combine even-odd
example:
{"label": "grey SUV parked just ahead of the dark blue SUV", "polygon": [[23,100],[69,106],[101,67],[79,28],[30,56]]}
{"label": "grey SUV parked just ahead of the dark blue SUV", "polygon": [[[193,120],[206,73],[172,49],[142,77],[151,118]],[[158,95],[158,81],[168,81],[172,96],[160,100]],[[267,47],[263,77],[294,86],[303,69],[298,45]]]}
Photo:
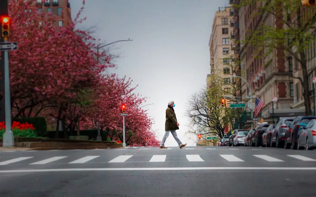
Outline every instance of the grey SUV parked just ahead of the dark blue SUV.
{"label": "grey SUV parked just ahead of the dark blue SUV", "polygon": [[293,118],[286,117],[282,117],[279,119],[279,121],[276,123],[275,129],[272,131],[271,134],[271,147],[282,147],[282,145],[285,143],[285,133],[289,129],[293,120]]}

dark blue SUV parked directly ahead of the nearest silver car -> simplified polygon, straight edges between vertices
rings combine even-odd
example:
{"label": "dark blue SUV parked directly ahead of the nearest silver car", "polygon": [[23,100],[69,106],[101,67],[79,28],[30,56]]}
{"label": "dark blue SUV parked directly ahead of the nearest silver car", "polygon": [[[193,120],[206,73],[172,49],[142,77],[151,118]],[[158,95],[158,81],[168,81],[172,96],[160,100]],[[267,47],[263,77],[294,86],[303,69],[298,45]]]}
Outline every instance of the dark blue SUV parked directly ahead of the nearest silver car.
{"label": "dark blue SUV parked directly ahead of the nearest silver car", "polygon": [[297,149],[297,136],[299,130],[307,126],[310,120],[316,119],[314,116],[297,116],[284,134],[284,147]]}

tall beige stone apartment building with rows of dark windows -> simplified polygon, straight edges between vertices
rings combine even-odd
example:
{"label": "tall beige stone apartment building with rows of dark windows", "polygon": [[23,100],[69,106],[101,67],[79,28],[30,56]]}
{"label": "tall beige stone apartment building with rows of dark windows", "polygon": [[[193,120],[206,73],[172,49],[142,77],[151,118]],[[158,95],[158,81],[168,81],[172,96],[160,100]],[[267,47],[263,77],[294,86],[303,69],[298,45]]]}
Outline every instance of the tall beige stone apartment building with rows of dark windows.
{"label": "tall beige stone apartment building with rows of dark windows", "polygon": [[[210,74],[215,74],[221,78],[223,89],[228,93],[232,91],[232,78],[229,75],[233,74],[232,61],[234,59],[234,51],[231,49],[234,45],[234,41],[231,39],[233,34],[232,24],[233,16],[230,14],[229,7],[216,11],[209,40]],[[210,77],[210,74],[208,77]],[[208,83],[207,85],[209,86]]]}

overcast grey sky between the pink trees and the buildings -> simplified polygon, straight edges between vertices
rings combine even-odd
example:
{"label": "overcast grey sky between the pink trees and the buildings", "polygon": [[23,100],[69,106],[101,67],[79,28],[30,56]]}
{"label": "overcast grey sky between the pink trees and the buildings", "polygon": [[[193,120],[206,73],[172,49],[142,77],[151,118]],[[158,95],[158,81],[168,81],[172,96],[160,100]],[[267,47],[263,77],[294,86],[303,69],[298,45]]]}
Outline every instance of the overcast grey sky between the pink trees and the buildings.
{"label": "overcast grey sky between the pink trees and the buildings", "polygon": [[[162,139],[167,103],[173,100],[180,124],[178,136],[187,146],[196,146],[185,135],[188,120],[185,105],[194,92],[206,85],[210,72],[208,42],[215,11],[228,6],[228,0],[86,0],[82,16],[84,27],[99,25],[96,38],[111,43],[133,39],[112,46],[119,77],[131,77],[139,85],[137,93],[149,97],[143,107],[155,118],[154,130]],[[72,17],[82,6],[70,0]],[[226,4],[226,5],[225,5]],[[192,137],[191,137],[192,138]],[[195,137],[194,137],[195,139]],[[165,146],[177,146],[169,135]]]}

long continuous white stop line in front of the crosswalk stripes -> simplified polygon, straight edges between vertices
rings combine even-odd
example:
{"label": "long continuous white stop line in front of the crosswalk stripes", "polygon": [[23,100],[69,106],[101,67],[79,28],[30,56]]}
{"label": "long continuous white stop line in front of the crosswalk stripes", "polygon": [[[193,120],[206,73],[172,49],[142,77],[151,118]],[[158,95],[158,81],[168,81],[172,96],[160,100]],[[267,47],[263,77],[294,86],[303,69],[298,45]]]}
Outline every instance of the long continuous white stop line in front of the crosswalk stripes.
{"label": "long continuous white stop line in front of the crosswalk stripes", "polygon": [[0,170],[0,173],[21,172],[67,172],[67,171],[158,171],[158,170],[305,170],[316,171],[316,167],[178,167],[178,168],[61,168],[31,170]]}

